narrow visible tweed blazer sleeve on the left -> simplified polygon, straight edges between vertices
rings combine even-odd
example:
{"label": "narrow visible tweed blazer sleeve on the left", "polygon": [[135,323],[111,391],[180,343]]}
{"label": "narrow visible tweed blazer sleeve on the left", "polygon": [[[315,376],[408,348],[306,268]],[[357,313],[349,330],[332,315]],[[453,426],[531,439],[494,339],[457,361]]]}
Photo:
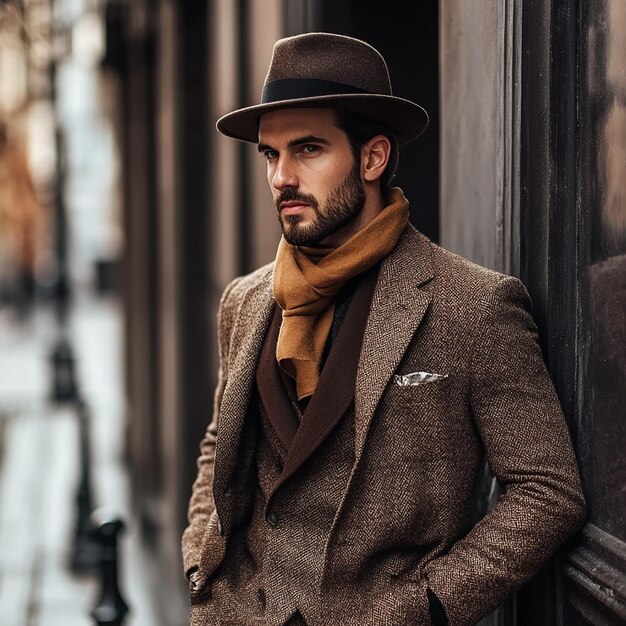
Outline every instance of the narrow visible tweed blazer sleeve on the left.
{"label": "narrow visible tweed blazer sleeve on the left", "polygon": [[202,537],[207,522],[213,513],[213,461],[215,458],[215,440],[219,421],[220,406],[224,387],[228,380],[228,352],[230,335],[237,313],[238,300],[233,291],[239,283],[239,278],[231,282],[224,291],[220,300],[217,314],[217,337],[219,350],[219,367],[217,386],[213,399],[213,417],[200,442],[200,456],[198,457],[198,475],[193,483],[191,499],[187,513],[189,522],[183,533],[182,552],[185,576],[189,576],[198,567]]}

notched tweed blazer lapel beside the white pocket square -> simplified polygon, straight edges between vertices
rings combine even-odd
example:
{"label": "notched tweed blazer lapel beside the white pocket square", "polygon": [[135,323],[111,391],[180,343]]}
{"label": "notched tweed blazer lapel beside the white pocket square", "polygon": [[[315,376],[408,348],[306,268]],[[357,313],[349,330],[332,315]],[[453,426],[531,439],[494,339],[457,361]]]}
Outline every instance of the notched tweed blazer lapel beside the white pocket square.
{"label": "notched tweed blazer lapel beside the white pocket square", "polygon": [[420,286],[434,275],[431,245],[409,225],[381,264],[356,376],[357,462],[376,406],[428,309],[430,294]]}

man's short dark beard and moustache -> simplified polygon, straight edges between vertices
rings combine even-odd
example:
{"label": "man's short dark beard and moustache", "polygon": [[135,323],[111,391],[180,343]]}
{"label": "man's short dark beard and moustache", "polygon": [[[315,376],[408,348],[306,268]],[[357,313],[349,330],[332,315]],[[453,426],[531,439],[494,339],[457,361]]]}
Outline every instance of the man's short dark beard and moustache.
{"label": "man's short dark beard and moustache", "polygon": [[[281,218],[278,208],[281,203],[294,201],[307,204],[315,211],[309,226],[298,226],[302,219],[300,215],[288,215],[284,221]],[[283,236],[294,246],[315,246],[340,229],[344,229],[347,235],[351,234],[356,229],[357,218],[364,204],[365,187],[356,159],[350,173],[331,191],[321,210],[315,196],[300,193],[293,187],[285,189],[274,200]]]}

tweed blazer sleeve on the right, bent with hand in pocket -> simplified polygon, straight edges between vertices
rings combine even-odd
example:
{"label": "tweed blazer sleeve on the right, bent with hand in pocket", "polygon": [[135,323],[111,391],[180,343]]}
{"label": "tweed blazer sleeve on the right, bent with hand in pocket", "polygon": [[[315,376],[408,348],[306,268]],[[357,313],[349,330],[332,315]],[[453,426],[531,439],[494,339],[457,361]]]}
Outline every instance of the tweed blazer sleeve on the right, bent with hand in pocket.
{"label": "tweed blazer sleeve on the right, bent with hand in pocket", "polygon": [[496,505],[426,568],[450,626],[474,624],[531,578],[585,518],[570,435],[522,283],[502,278],[474,346],[471,410],[504,487]]}

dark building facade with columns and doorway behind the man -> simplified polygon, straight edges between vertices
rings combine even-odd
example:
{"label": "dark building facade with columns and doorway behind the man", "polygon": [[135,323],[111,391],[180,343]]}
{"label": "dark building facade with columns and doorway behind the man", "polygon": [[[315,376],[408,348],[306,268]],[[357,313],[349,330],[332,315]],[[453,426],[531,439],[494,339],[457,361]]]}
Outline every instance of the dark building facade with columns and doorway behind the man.
{"label": "dark building facade with columns and doorway behind the man", "polygon": [[412,221],[527,284],[575,440],[589,522],[485,624],[624,623],[621,0],[109,0],[103,11],[123,190],[128,459],[166,588],[184,602],[179,540],[212,411],[217,303],[232,277],[272,260],[279,236],[255,147],[214,122],[257,100],[276,39],[327,30],[371,42],[396,94],[431,113],[398,174]]}

